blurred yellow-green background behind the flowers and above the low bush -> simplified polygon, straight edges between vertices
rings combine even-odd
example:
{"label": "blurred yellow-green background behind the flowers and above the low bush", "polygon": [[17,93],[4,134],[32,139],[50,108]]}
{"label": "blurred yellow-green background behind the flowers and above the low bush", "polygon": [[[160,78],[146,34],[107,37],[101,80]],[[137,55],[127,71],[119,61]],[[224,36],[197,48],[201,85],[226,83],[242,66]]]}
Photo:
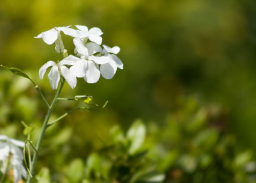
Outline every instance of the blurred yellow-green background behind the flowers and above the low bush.
{"label": "blurred yellow-green background behind the flowers and above the low bush", "polygon": [[[1,0],[0,63],[28,73],[49,101],[55,91],[46,76],[40,81],[38,70],[60,56],[54,45],[34,36],[52,27],[86,25],[101,28],[103,44],[121,48],[124,69],[113,79],[101,77],[96,84],[78,79],[73,90],[64,86],[62,97],[92,95],[97,104],[109,102],[104,110],[76,111],[52,127],[40,164],[55,171],[60,163],[85,159],[104,146],[99,138],[108,142],[112,126],[128,129],[136,118],[165,129],[170,116],[186,118],[188,106],[191,111],[214,108],[218,115],[204,128],[232,133],[233,147],[252,149],[255,155],[255,7],[256,1],[249,0]],[[63,40],[73,54],[72,39],[63,35]],[[20,121],[39,130],[46,107],[29,81],[8,70],[0,69],[0,86],[0,133],[24,140]],[[52,119],[79,105],[60,103]],[[154,136],[160,136],[158,131]],[[170,137],[163,138],[168,142]],[[57,153],[63,156],[49,157]]]}

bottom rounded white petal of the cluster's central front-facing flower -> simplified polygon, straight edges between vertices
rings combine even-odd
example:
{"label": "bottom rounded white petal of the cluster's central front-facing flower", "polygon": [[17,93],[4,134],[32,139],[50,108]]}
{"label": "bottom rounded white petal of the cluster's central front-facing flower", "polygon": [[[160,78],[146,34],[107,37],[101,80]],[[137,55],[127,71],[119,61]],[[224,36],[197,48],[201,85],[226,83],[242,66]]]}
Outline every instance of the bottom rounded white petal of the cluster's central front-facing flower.
{"label": "bottom rounded white petal of the cluster's central front-facing flower", "polygon": [[99,72],[99,69],[95,65],[94,62],[88,61],[88,69],[86,70],[85,79],[86,82],[89,84],[93,84],[97,81],[99,81],[99,77],[101,76],[101,72]]}

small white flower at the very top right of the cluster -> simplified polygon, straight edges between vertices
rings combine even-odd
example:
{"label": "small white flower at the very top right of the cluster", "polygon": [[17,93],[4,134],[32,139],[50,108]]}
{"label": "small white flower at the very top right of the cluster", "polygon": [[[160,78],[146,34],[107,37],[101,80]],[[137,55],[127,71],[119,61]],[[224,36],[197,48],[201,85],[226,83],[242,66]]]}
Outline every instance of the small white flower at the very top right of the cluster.
{"label": "small white flower at the very top right of the cluster", "polygon": [[[101,29],[98,27],[92,27],[88,30],[88,27],[84,25],[76,25],[76,27],[81,31],[77,31],[77,36],[80,38],[89,38],[90,41],[101,45],[103,34]],[[71,35],[70,35],[71,36]],[[74,36],[76,37],[76,36]]]}

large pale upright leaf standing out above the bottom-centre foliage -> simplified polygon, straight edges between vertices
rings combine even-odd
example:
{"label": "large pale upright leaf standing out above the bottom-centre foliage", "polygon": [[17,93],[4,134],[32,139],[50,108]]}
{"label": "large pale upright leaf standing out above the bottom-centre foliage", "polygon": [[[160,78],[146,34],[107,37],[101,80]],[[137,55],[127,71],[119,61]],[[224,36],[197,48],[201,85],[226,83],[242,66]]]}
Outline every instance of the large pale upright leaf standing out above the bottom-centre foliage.
{"label": "large pale upright leaf standing out above the bottom-centre foliage", "polygon": [[142,146],[146,136],[146,127],[141,120],[136,120],[127,132],[129,154],[133,155]]}

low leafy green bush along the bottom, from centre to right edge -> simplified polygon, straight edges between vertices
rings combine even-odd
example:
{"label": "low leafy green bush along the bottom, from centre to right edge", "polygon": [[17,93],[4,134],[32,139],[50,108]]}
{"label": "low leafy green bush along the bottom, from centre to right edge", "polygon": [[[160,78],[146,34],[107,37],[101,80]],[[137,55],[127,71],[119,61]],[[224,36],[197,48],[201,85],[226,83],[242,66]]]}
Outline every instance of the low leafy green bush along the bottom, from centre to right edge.
{"label": "low leafy green bush along the bottom, from centre to right edge", "polygon": [[222,115],[216,105],[201,107],[188,98],[163,127],[136,120],[125,134],[113,126],[110,141],[85,163],[71,161],[63,182],[253,183],[255,154],[236,144],[226,124],[217,126]]}

